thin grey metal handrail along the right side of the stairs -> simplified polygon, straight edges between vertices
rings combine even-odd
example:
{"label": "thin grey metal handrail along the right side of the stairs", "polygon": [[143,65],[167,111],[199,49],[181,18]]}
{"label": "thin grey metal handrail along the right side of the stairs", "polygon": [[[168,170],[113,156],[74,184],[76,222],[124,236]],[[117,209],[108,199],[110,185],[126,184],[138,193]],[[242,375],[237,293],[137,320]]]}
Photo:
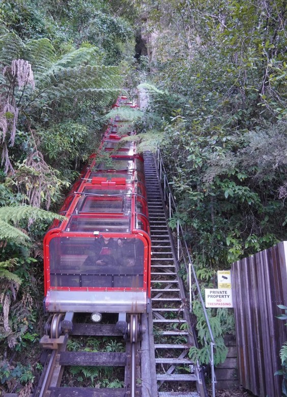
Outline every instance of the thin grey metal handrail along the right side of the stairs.
{"label": "thin grey metal handrail along the right side of the stairs", "polygon": [[[157,149],[156,151],[156,160],[157,160],[157,168],[159,170],[159,176],[160,176],[160,180],[162,180],[163,178],[163,183],[164,183],[164,200],[168,201],[168,208],[169,208],[169,218],[171,218],[171,215],[174,214],[174,210],[172,208],[171,203],[173,204],[174,208],[175,208],[175,212],[178,213],[177,210],[177,205],[173,196],[173,192],[171,192],[170,189],[170,185],[168,183],[168,179],[167,179],[167,174],[165,171],[165,167],[164,167],[164,163],[162,160],[162,156],[160,153],[160,149]],[[168,193],[167,193],[168,190]],[[166,197],[167,196],[167,197]],[[180,238],[182,237],[182,238]],[[184,250],[185,249],[185,250]],[[203,296],[202,293],[200,291],[200,286],[198,283],[198,279],[194,270],[194,266],[189,254],[189,249],[187,247],[186,241],[184,239],[184,231],[182,226],[180,225],[179,220],[177,221],[177,254],[178,254],[178,261],[180,260],[180,251],[183,253],[183,260],[184,260],[184,264],[185,264],[185,268],[186,268],[186,272],[187,274],[189,274],[189,300],[190,300],[190,312],[192,311],[192,307],[191,307],[191,303],[192,303],[192,292],[191,292],[191,273],[193,275],[194,281],[195,281],[195,285],[196,285],[196,289],[197,289],[197,294],[200,300],[200,303],[202,304],[203,307],[203,311],[204,311],[204,315],[205,315],[205,319],[206,319],[206,323],[207,323],[207,327],[208,327],[208,331],[210,334],[210,365],[211,365],[211,382],[212,382],[212,397],[215,397],[215,374],[214,374],[214,346],[215,346],[215,342],[214,342],[214,336],[213,336],[213,332],[210,326],[210,322],[208,319],[208,315],[207,315],[207,310],[205,307],[205,303],[203,300]],[[187,254],[187,258],[184,256],[184,251]]]}

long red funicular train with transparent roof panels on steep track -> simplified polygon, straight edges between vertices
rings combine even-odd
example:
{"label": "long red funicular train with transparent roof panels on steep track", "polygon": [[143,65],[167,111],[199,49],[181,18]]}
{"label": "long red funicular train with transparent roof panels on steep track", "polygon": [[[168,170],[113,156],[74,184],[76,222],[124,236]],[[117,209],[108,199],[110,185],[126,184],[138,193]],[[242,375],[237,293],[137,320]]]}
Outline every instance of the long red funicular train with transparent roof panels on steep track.
{"label": "long red funicular train with transparent roof panels on steep track", "polygon": [[[134,107],[126,97],[116,107]],[[134,142],[121,145],[119,116],[67,196],[44,239],[45,310],[54,313],[46,333],[72,327],[73,314],[119,313],[119,324],[138,333],[150,291],[151,240],[143,158]],[[129,133],[129,135],[134,133]],[[65,315],[65,318],[64,318]],[[128,329],[123,330],[128,333]]]}

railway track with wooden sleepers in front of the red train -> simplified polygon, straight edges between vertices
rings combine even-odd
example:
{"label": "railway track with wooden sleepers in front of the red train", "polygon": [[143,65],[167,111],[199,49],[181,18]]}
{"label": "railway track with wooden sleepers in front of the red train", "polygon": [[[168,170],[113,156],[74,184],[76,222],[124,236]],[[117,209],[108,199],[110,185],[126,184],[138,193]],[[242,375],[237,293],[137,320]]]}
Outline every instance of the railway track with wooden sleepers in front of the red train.
{"label": "railway track with wooden sleepers in front of the red train", "polygon": [[[59,338],[44,336],[41,345],[46,359],[42,376],[33,397],[131,397],[141,395],[141,350],[140,341],[126,341],[125,352],[69,352],[67,343],[72,336],[123,336],[113,324],[74,324],[73,330]],[[52,348],[52,349],[51,349]],[[67,387],[61,385],[64,368],[71,365],[111,366],[124,368],[124,387],[94,388]]]}

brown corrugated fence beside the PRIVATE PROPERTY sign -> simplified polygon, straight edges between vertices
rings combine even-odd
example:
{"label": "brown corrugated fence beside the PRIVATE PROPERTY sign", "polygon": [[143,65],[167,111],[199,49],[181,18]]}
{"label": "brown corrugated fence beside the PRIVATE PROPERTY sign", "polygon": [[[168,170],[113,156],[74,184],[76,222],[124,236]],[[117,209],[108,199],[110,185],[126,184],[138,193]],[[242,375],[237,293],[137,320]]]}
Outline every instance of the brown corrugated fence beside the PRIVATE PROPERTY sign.
{"label": "brown corrugated fence beside the PRIVATE PROPERTY sign", "polygon": [[277,305],[287,306],[287,242],[232,265],[238,373],[242,386],[260,397],[281,396],[279,351],[287,341]]}

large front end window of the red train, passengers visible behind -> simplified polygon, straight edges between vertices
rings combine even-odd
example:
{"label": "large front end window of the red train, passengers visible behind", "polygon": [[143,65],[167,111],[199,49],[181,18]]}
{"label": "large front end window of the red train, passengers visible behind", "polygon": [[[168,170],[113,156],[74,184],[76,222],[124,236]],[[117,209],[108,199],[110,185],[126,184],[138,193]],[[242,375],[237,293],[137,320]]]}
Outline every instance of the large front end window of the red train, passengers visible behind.
{"label": "large front end window of the red train, passengers visible behind", "polygon": [[54,237],[50,286],[142,288],[144,252],[136,238]]}

